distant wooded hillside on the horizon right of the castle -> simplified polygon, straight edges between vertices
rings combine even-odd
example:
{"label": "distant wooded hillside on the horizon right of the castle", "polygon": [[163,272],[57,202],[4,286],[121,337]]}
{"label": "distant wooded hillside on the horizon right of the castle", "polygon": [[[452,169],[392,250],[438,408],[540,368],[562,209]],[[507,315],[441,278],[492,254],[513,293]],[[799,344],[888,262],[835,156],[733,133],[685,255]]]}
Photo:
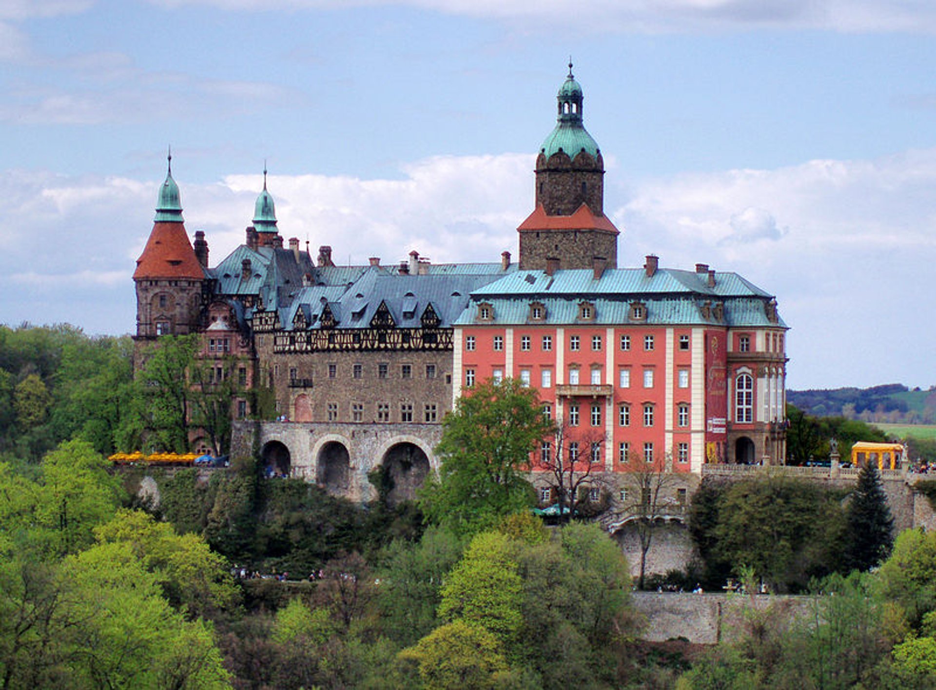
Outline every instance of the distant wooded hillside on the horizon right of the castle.
{"label": "distant wooded hillside on the horizon right of the castle", "polygon": [[862,422],[936,424],[936,386],[910,390],[900,383],[873,388],[787,391],[786,400],[807,414]]}

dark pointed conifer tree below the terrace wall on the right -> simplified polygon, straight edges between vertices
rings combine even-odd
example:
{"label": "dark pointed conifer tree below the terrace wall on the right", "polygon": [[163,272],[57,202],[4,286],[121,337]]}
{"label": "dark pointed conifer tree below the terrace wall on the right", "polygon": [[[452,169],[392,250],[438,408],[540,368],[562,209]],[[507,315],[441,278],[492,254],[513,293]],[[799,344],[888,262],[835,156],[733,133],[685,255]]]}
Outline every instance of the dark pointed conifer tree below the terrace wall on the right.
{"label": "dark pointed conifer tree below the terrace wall on the right", "polygon": [[887,508],[877,467],[868,463],[858,474],[858,483],[848,506],[848,543],[845,566],[868,570],[881,563],[894,542],[894,519]]}

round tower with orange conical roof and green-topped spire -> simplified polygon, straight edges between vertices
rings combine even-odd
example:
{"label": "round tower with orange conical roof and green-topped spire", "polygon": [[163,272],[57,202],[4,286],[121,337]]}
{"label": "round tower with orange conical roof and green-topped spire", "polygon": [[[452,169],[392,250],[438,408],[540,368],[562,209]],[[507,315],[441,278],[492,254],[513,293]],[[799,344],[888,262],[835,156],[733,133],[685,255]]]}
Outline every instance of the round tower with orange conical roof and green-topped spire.
{"label": "round tower with orange conical roof and green-topped spire", "polygon": [[185,233],[179,185],[168,156],[166,181],[159,188],[153,231],[137,259],[137,339],[194,333],[201,323],[207,285],[208,243],[196,235],[193,249]]}

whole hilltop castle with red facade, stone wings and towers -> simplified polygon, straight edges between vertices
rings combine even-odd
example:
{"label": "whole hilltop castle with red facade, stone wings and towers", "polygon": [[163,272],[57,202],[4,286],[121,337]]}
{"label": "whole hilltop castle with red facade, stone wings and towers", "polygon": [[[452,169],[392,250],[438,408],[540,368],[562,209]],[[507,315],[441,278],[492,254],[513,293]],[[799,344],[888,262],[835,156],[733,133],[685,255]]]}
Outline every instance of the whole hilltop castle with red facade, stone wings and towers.
{"label": "whole hilltop castle with red facade, stone wings and towers", "polygon": [[[651,255],[619,268],[572,65],[557,101],[517,261],[438,265],[414,251],[399,264],[336,266],[329,246],[313,259],[296,238],[284,246],[265,172],[244,244],[211,267],[204,233],[189,241],[169,167],[133,276],[137,341],[201,334],[219,376],[274,391],[276,421],[259,431],[268,466],[357,499],[371,495],[377,466],[394,497],[413,496],[436,464],[446,411],[489,378],[534,386],[567,429],[567,447],[544,442],[542,458],[589,453],[612,477],[628,453],[687,474],[782,464],[786,325],[775,298],[704,264],[665,268]],[[231,358],[237,372],[223,370]],[[237,417],[252,411],[236,400]]]}

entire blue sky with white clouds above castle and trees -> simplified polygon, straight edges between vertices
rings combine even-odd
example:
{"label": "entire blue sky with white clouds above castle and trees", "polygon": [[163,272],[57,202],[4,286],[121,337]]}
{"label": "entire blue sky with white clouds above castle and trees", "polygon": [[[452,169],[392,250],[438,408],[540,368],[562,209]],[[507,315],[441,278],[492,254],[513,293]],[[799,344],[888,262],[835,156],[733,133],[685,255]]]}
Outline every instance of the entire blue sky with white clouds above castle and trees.
{"label": "entire blue sky with white clouds above castle and trees", "polygon": [[0,323],[136,327],[172,173],[339,261],[516,256],[570,56],[620,266],[776,295],[794,389],[936,384],[936,3],[0,0]]}

